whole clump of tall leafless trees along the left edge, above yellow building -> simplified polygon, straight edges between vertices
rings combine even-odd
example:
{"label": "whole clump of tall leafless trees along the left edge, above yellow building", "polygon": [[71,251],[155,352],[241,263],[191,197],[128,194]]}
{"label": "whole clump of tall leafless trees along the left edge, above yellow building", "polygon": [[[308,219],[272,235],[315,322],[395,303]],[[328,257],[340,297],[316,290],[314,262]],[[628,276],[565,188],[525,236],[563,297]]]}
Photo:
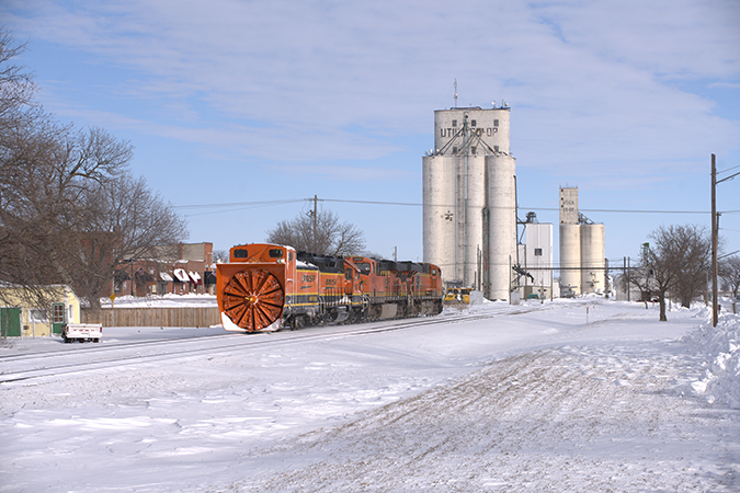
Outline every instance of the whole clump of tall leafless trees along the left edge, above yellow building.
{"label": "whole clump of tall leafless trees along the left edge, above yellow building", "polygon": [[33,103],[30,76],[11,61],[22,49],[0,30],[0,282],[39,307],[43,286],[68,284],[96,307],[122,259],[177,243],[185,225],[128,174],[130,144]]}

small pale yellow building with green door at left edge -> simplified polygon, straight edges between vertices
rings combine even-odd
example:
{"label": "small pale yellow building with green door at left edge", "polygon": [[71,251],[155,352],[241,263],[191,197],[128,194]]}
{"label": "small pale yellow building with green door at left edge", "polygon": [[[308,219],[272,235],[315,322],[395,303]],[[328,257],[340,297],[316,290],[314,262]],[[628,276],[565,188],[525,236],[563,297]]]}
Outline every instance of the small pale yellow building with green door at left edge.
{"label": "small pale yellow building with green door at left edge", "polygon": [[50,303],[35,307],[25,299],[22,287],[0,287],[0,336],[48,336],[60,334],[67,323],[80,323],[80,299],[69,286],[43,289]]}

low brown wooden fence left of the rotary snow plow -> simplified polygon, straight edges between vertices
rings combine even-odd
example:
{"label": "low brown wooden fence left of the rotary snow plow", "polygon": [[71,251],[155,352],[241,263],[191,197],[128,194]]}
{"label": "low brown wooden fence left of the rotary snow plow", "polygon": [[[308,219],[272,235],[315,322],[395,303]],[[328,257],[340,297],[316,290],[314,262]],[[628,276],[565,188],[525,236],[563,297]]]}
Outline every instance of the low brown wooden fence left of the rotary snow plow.
{"label": "low brown wooden fence left of the rotary snow plow", "polygon": [[220,325],[218,307],[104,308],[82,310],[82,323],[103,326],[212,326]]}

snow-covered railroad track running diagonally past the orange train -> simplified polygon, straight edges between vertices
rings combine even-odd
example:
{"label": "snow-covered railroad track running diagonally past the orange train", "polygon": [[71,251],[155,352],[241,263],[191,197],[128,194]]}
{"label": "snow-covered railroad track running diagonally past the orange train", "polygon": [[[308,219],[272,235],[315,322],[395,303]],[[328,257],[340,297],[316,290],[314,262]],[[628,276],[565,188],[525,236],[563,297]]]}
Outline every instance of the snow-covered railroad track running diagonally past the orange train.
{"label": "snow-covered railroad track running diagonally past the orange train", "polygon": [[[501,316],[521,314],[560,307],[501,308],[481,312],[445,313],[443,316],[369,322],[354,325],[329,325],[308,328],[295,332],[260,334],[223,334],[195,337],[178,337],[160,341],[135,341],[130,343],[93,345],[83,351],[55,351],[23,355],[5,355],[0,358],[0,388],[12,385],[29,385],[72,374],[95,371],[124,366],[174,360],[202,355],[218,355],[257,347],[280,347],[312,341],[371,335],[377,333],[415,329],[424,325],[464,323],[492,319]],[[84,360],[80,360],[84,358]]]}

